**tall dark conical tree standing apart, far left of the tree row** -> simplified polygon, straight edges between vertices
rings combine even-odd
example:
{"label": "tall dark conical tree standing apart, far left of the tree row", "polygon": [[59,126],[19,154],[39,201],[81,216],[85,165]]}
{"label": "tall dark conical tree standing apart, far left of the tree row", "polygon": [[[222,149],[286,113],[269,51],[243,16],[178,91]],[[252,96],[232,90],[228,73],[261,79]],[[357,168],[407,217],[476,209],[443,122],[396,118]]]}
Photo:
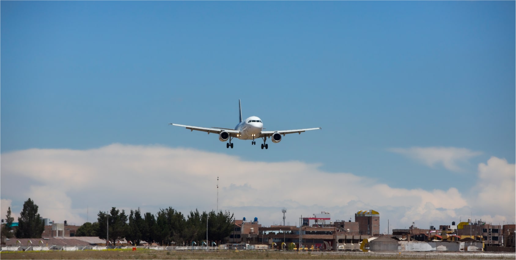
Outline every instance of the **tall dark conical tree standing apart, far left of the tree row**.
{"label": "tall dark conical tree standing apart, far left of the tree row", "polygon": [[38,205],[30,198],[23,203],[23,210],[18,218],[17,238],[41,238],[45,223],[38,214]]}

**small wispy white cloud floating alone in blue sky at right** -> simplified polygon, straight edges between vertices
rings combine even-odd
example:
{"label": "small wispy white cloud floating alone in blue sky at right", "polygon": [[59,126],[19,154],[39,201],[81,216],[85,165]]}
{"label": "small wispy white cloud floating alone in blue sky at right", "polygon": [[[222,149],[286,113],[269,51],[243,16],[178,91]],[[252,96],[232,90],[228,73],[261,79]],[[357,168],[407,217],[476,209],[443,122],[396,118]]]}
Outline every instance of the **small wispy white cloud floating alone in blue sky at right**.
{"label": "small wispy white cloud floating alone in blue sky at right", "polygon": [[451,171],[461,171],[461,168],[457,165],[458,162],[465,162],[472,157],[482,154],[479,151],[456,147],[411,147],[390,148],[388,150],[406,155],[430,167],[442,164],[444,168]]}

